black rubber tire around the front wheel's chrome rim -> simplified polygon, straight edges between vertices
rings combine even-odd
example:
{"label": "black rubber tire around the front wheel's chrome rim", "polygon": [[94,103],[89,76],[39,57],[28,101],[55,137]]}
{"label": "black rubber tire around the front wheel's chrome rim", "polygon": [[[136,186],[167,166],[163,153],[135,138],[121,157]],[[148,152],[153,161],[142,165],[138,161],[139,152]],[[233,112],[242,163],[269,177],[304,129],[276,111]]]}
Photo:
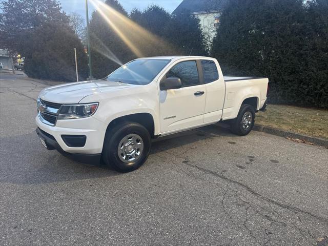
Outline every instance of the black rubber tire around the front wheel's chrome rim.
{"label": "black rubber tire around the front wheel's chrome rim", "polygon": [[[129,156],[126,155],[126,158],[128,158],[128,160],[125,161],[129,162],[124,162],[122,161],[124,157],[120,157],[118,154],[118,145],[121,141],[124,140],[126,136],[129,136],[131,134],[134,134],[141,138],[143,150],[136,157],[137,159],[135,161],[129,161]],[[150,146],[150,134],[144,126],[136,122],[123,122],[122,124],[119,124],[107,131],[103,147],[103,160],[106,165],[108,165],[110,168],[115,169],[118,172],[131,172],[140,168],[145,163],[149,155]],[[135,157],[132,156],[131,158]]]}

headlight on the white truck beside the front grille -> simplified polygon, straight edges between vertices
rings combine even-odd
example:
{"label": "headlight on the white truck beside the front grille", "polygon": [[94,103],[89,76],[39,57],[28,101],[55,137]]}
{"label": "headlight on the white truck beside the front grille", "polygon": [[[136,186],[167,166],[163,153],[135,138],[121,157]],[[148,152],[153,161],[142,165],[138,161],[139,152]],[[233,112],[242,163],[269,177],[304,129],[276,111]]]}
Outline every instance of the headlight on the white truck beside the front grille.
{"label": "headlight on the white truck beside the front grille", "polygon": [[99,103],[71,104],[60,107],[58,119],[76,119],[89,117],[96,112]]}

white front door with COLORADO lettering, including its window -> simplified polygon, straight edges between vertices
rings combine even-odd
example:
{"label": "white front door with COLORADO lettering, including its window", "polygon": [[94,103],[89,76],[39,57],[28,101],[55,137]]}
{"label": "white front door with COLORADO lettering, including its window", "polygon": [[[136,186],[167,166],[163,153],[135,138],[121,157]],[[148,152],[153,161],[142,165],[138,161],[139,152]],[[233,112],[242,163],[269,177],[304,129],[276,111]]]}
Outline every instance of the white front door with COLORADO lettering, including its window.
{"label": "white front door with COLORADO lettering, including its window", "polygon": [[165,77],[180,78],[182,88],[159,91],[161,133],[203,124],[206,85],[201,83],[196,61],[181,61]]}

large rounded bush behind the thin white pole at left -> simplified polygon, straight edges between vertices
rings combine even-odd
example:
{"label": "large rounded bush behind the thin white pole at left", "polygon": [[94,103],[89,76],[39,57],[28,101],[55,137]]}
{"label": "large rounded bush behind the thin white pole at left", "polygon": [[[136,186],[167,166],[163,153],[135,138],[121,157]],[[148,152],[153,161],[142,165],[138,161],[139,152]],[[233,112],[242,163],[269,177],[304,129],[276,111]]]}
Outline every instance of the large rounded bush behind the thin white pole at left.
{"label": "large rounded bush behind the thin white pole at left", "polygon": [[60,24],[44,24],[29,31],[24,72],[33,78],[76,81],[74,48],[78,60],[79,80],[87,77],[87,55],[72,30]]}

